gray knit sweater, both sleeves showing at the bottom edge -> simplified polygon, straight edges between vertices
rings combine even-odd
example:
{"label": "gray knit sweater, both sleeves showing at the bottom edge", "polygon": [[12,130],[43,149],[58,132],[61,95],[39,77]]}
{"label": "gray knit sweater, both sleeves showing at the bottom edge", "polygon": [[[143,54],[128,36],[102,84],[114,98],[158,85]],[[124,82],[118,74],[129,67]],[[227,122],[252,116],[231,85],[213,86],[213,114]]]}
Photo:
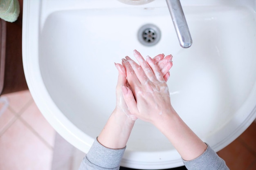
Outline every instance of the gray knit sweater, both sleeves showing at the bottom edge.
{"label": "gray knit sweater, both sleeves showing at the bottom edge", "polygon": [[[226,163],[207,144],[207,150],[191,161],[185,161],[188,170],[229,170]],[[97,139],[83,158],[79,170],[119,170],[125,148],[110,149],[102,146]]]}

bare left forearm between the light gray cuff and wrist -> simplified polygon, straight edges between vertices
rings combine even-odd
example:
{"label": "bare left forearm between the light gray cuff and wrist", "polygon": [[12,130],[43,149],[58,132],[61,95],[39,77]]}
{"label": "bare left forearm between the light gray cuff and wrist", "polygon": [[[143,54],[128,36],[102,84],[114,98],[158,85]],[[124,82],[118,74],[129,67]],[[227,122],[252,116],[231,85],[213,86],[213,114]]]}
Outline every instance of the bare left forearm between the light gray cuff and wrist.
{"label": "bare left forearm between the light gray cuff and wrist", "polygon": [[124,148],[134,122],[135,120],[115,109],[98,137],[99,143],[107,148]]}

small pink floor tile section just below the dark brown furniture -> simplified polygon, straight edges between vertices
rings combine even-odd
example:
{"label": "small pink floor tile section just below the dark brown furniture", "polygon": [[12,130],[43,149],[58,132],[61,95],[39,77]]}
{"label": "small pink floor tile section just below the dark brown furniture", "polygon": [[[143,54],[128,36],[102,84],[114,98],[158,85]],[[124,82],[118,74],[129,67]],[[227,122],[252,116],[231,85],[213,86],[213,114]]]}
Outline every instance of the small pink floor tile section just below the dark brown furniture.
{"label": "small pink floor tile section just below the dark brown furniture", "polygon": [[9,100],[9,107],[13,109],[15,113],[19,113],[29,101],[32,100],[32,96],[28,90],[19,91],[16,93],[9,93],[6,95],[2,95],[3,97],[7,97]]}

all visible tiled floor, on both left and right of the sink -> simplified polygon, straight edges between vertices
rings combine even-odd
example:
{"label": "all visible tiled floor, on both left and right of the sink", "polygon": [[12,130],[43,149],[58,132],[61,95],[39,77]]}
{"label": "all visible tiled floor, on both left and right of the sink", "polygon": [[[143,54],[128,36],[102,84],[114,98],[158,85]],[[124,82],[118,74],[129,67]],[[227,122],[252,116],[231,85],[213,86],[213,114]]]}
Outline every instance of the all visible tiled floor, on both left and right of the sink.
{"label": "all visible tiled floor, on both left and right of the sink", "polygon": [[[0,170],[51,170],[55,134],[29,91],[0,97]],[[256,123],[218,155],[231,170],[256,170]]]}

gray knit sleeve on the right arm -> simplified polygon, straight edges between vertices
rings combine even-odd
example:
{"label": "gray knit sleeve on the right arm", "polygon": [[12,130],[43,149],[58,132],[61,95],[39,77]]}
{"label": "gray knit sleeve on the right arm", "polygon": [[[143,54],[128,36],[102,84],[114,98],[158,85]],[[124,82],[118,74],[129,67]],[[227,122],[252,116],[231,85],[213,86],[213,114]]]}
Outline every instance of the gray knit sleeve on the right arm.
{"label": "gray knit sleeve on the right arm", "polygon": [[199,157],[191,160],[183,160],[188,170],[229,170],[225,161],[207,144],[207,149]]}

